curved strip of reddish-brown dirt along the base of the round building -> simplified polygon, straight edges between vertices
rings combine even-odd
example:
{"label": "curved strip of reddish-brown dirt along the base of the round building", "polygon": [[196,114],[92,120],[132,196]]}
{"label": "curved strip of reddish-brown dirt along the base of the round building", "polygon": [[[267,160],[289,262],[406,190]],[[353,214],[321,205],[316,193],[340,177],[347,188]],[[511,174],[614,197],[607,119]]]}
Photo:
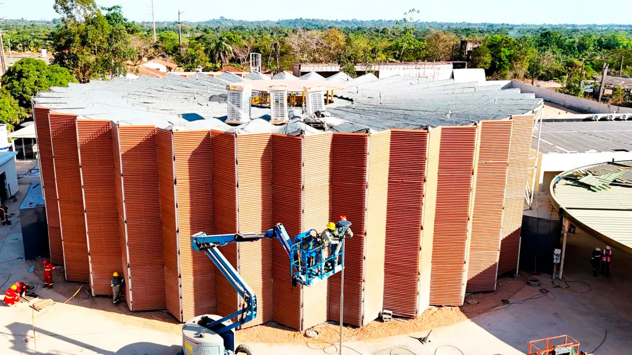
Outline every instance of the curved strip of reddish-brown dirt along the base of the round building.
{"label": "curved strip of reddish-brown dirt along the base of the round building", "polygon": [[[35,265],[35,275],[42,277],[41,259],[28,260],[27,263],[28,265]],[[395,318],[391,323],[375,320],[363,328],[346,326],[344,327],[344,339],[345,341],[376,339],[398,334],[422,332],[461,322],[490,311],[497,306],[502,306],[502,299],[511,298],[511,296],[526,286],[526,277],[523,274],[520,279],[513,279],[513,277],[498,279],[496,291],[478,292],[466,296],[466,301],[474,299],[478,304],[466,302],[461,307],[431,307],[421,316],[414,319]],[[63,280],[62,267],[58,267],[55,271],[54,280],[54,290],[66,298],[72,298],[68,301],[70,304],[102,311],[107,317],[114,318],[130,326],[150,328],[169,334],[180,334],[181,332],[181,324],[166,311],[131,312],[125,304],[112,305],[111,298],[105,296],[91,297],[87,284]],[[77,292],[77,290],[79,291]],[[73,297],[75,292],[77,293]],[[322,347],[326,342],[336,342],[339,339],[339,325],[335,322],[322,323],[313,329],[319,332],[319,340],[310,342],[308,346]],[[274,322],[238,330],[237,337],[239,342],[270,344],[304,344],[310,340],[305,336],[305,332],[298,332]]]}

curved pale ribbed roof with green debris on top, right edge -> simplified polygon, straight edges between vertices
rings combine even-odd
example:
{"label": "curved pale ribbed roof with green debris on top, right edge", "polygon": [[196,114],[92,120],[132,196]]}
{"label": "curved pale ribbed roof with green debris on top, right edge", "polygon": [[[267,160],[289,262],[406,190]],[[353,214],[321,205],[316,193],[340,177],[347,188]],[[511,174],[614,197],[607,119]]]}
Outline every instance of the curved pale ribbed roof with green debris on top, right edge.
{"label": "curved pale ribbed roof with green debris on top, right edge", "polygon": [[[632,161],[581,167],[560,176],[576,171],[624,171],[624,176],[631,178]],[[617,184],[610,187],[610,190],[592,191],[562,178],[554,180],[551,198],[555,207],[562,207],[564,215],[574,224],[632,255],[632,188]]]}

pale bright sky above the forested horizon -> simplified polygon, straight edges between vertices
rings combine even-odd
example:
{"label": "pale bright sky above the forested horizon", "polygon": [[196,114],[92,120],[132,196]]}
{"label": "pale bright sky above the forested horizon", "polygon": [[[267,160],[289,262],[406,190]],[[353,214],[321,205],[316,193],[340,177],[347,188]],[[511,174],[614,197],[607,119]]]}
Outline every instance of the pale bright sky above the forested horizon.
{"label": "pale bright sky above the forested horizon", "polygon": [[[53,0],[0,0],[0,18],[50,20],[58,17]],[[97,0],[99,6],[123,6],[125,16],[135,21],[150,21],[151,0]],[[304,6],[300,4],[314,4]],[[328,20],[395,20],[411,8],[422,9],[415,20],[490,23],[631,23],[632,0],[607,1],[598,9],[594,0],[154,0],[157,21],[183,21],[211,18],[237,20],[280,20],[324,18]]]}

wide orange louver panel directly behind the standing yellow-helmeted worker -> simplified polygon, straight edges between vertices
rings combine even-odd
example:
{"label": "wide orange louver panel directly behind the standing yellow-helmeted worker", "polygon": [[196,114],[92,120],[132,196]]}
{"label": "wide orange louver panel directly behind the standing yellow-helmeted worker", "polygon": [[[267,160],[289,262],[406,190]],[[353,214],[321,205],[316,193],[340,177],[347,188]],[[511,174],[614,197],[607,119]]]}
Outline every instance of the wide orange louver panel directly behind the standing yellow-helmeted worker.
{"label": "wide orange louver panel directly behind the standing yellow-helmeted worker", "polygon": [[106,120],[76,120],[93,295],[112,294],[112,273],[123,271],[111,126]]}

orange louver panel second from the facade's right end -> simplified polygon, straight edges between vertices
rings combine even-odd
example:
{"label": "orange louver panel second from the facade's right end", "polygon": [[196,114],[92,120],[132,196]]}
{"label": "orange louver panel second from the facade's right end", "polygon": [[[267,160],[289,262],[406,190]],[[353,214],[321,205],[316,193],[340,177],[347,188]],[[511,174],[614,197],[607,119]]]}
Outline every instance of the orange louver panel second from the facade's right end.
{"label": "orange louver panel second from the facade's right end", "polygon": [[466,291],[496,289],[511,121],[482,121]]}

